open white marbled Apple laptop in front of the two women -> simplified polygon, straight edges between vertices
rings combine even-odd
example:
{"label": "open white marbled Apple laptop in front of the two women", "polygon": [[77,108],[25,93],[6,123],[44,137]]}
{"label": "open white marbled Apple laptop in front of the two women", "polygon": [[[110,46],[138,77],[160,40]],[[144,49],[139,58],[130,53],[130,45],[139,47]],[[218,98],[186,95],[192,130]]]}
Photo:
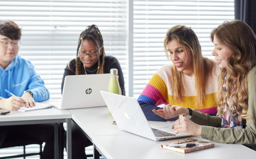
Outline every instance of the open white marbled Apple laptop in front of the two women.
{"label": "open white marbled Apple laptop in front of the two women", "polygon": [[101,95],[121,130],[155,141],[191,136],[183,132],[175,134],[174,130],[167,125],[157,126],[157,124],[154,124],[155,128],[151,128],[135,98],[105,91],[101,91]]}

